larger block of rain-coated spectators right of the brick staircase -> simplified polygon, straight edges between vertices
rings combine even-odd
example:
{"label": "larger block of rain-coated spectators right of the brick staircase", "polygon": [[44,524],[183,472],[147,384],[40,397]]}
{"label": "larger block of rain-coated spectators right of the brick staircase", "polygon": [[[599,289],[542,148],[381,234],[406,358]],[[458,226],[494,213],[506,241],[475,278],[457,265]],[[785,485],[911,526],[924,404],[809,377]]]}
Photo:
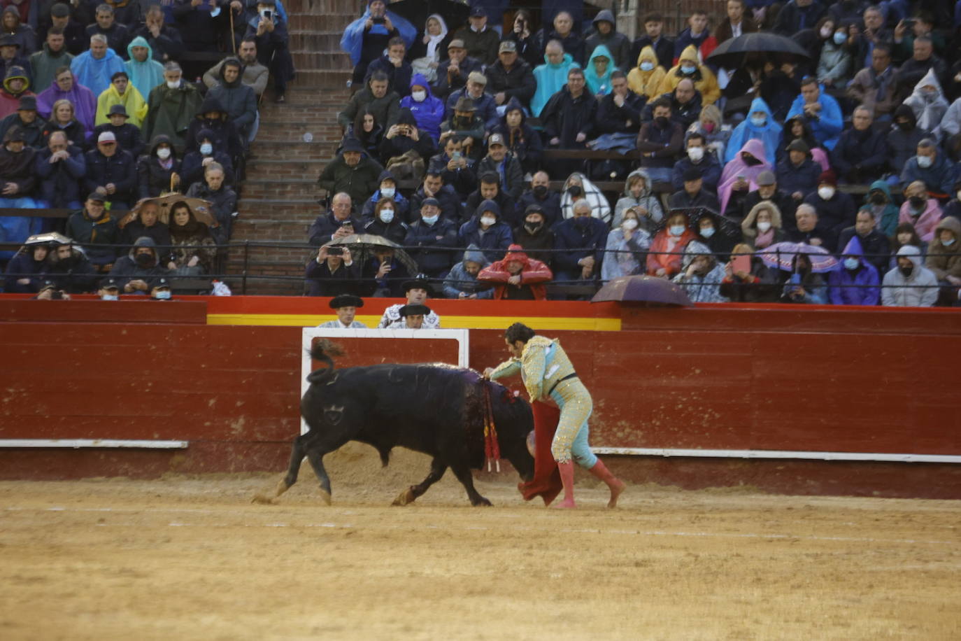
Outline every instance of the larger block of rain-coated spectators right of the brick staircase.
{"label": "larger block of rain-coated spectators right of the brick staircase", "polygon": [[[696,302],[957,304],[961,2],[728,0],[633,41],[607,10],[502,28],[487,4],[413,25],[372,0],[345,32],[308,293],[400,295],[416,268],[450,298],[647,274]],[[752,32],[807,57],[711,59]],[[404,249],[330,253],[354,233]]]}

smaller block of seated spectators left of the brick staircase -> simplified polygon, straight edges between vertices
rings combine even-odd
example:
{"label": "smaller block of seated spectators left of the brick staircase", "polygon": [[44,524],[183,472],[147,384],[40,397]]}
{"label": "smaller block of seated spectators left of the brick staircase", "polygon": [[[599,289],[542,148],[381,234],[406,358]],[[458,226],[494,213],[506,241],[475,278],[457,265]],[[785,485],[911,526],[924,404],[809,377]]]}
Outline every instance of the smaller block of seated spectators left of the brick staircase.
{"label": "smaller block of seated spectators left of the brick staircase", "polygon": [[[0,216],[0,242],[31,239],[0,252],[4,291],[212,273],[259,100],[272,77],[283,102],[293,74],[281,0],[28,0],[0,22],[0,208],[73,210]],[[168,193],[183,200],[151,200]]]}

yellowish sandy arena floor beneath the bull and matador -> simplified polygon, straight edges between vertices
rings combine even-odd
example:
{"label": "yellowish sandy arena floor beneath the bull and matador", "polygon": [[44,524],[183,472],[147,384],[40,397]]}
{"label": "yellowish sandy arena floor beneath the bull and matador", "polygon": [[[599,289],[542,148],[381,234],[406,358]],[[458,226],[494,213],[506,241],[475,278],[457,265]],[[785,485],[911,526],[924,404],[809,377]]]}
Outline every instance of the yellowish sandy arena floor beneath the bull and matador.
{"label": "yellowish sandy arena floor beneath the bull and matador", "polygon": [[632,485],[525,504],[398,452],[281,478],[0,482],[0,638],[958,639],[961,504]]}

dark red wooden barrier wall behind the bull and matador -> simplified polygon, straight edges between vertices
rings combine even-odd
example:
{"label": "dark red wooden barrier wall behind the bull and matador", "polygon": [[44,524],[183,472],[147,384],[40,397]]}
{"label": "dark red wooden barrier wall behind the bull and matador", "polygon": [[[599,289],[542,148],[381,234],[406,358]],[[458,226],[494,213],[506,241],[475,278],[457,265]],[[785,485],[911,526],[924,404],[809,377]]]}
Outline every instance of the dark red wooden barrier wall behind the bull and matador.
{"label": "dark red wooden barrier wall behind the bull and matador", "polygon": [[[48,306],[44,312],[61,305],[24,303]],[[151,305],[179,304],[142,309]],[[958,456],[956,318],[627,309],[625,327],[634,329],[552,335],[594,395],[595,446]],[[177,451],[0,450],[0,478],[282,470],[299,431],[300,330],[175,322],[0,323],[0,438],[190,441]],[[352,341],[350,349],[358,362],[435,359],[411,351],[412,342],[377,341],[371,354],[357,354]],[[479,369],[505,358],[502,332],[471,331],[470,357]],[[683,487],[961,498],[961,465],[659,457],[612,464],[635,481]]]}

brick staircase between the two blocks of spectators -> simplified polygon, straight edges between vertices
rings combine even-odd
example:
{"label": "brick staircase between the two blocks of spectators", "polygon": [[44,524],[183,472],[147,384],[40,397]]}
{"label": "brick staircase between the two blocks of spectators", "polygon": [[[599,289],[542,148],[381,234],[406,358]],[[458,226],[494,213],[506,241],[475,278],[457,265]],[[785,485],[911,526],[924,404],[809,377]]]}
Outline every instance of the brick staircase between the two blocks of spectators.
{"label": "brick staircase between the two blocks of spectators", "polygon": [[[320,211],[317,176],[340,140],[336,116],[350,98],[351,62],[340,51],[344,28],[360,14],[357,0],[290,0],[290,49],[296,80],[287,86],[286,102],[271,94],[260,106],[260,129],[251,146],[247,180],[241,187],[232,243],[306,243],[308,227]],[[311,142],[304,135],[313,136]],[[235,248],[227,264],[230,274],[285,276],[293,280],[249,278],[248,294],[300,294],[303,291],[303,248]],[[234,293],[238,278],[228,279]]]}

